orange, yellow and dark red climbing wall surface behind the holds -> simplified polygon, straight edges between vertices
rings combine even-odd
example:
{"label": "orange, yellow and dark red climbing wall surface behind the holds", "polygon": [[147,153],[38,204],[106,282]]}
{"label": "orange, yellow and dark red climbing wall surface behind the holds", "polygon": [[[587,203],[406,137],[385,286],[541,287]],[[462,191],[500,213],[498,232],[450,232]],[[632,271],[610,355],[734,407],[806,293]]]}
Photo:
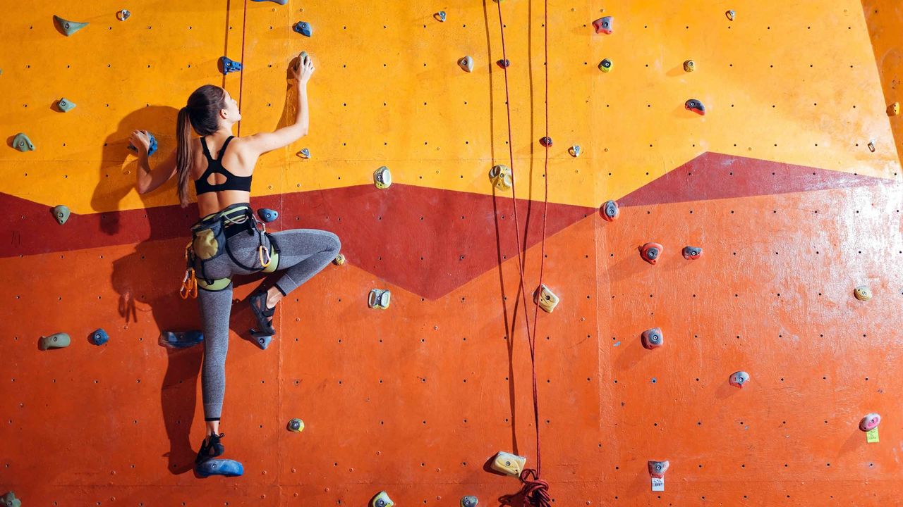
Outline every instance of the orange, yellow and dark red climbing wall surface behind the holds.
{"label": "orange, yellow and dark red climbing wall surface behind the holds", "polygon": [[[522,0],[0,2],[0,494],[499,505],[521,483],[491,459],[536,468],[538,422],[554,505],[898,502],[898,2],[578,1],[547,27]],[[88,25],[66,36],[54,14]],[[347,263],[284,300],[265,350],[245,301],[262,279],[237,279],[220,430],[245,473],[202,479],[202,348],[158,343],[199,327],[177,293],[197,209],[172,181],[136,194],[128,135],[153,132],[161,161],[207,83],[240,100],[236,134],[274,130],[299,51],[317,68],[310,134],[259,161],[252,204],[279,211],[271,230],[336,233]],[[221,74],[222,56],[243,70]],[[495,164],[514,189],[493,187]],[[41,350],[54,333],[70,346]],[[670,462],[663,491],[649,460]]]}

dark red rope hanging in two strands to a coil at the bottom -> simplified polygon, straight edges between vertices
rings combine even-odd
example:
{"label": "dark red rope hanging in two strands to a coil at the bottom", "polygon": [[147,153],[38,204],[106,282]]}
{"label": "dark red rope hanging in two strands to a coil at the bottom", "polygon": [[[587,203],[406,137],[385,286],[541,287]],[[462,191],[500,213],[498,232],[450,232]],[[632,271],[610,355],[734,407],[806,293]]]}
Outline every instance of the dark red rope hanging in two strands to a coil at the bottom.
{"label": "dark red rope hanging in two strands to a coil at the bottom", "polygon": [[[502,60],[507,63],[507,54],[505,50],[505,23],[502,21],[502,6],[501,2],[497,2],[498,5],[498,27],[501,30],[501,41],[502,41]],[[545,138],[549,137],[549,3],[548,0],[545,0],[545,14],[544,14],[544,37],[545,37],[545,55],[544,55],[544,67],[545,67]],[[511,202],[514,207],[514,224],[516,234],[515,237],[517,239],[517,272],[520,276],[520,293],[521,297],[524,300],[524,317],[526,322],[526,338],[527,342],[530,344],[530,364],[533,367],[533,417],[535,421],[535,429],[536,429],[536,469],[527,468],[520,474],[520,480],[524,483],[524,486],[521,488],[519,493],[530,505],[535,505],[536,507],[549,507],[549,494],[548,487],[549,484],[540,479],[540,473],[543,468],[543,459],[542,454],[540,452],[539,445],[539,399],[536,395],[536,316],[539,312],[539,306],[534,305],[533,312],[533,334],[531,336],[530,333],[530,318],[526,314],[526,290],[524,283],[524,260],[521,258],[521,246],[520,246],[520,225],[517,221],[517,190],[515,188],[515,178],[514,174],[514,143],[511,139],[511,106],[510,106],[510,97],[508,93],[508,81],[507,81],[507,65],[502,65],[502,69],[505,72],[505,109],[507,111],[507,129],[508,129],[508,158],[511,167]],[[543,209],[543,239],[542,239],[542,253],[539,264],[539,287],[542,287],[543,284],[543,271],[545,268],[545,217],[546,211],[549,207],[549,145],[551,143],[543,143],[545,145],[545,207]],[[524,231],[524,241],[526,243],[526,238],[528,237],[529,232],[525,229]],[[526,246],[526,245],[525,245]],[[526,259],[526,251],[524,252],[524,258]],[[512,327],[512,340],[514,339],[514,327]],[[502,496],[499,500],[503,505],[512,505],[515,497],[518,495],[506,495]]]}

